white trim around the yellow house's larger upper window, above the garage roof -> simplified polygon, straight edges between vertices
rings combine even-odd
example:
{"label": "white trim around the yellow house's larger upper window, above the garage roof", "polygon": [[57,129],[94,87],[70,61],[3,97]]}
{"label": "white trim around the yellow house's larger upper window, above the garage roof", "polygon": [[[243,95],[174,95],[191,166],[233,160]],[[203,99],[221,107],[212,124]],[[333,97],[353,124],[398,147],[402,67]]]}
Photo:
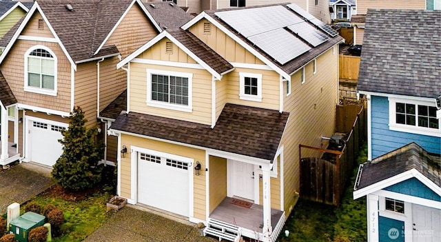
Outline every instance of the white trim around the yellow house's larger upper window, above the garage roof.
{"label": "white trim around the yellow house's larger upper window, above the garage roof", "polygon": [[[164,103],[162,101],[152,100],[152,74],[161,74],[174,77],[186,77],[188,79],[188,105],[178,105],[172,103]],[[155,108],[167,108],[170,110],[182,111],[182,112],[192,112],[193,110],[193,74],[187,72],[170,72],[167,70],[152,70],[147,69],[147,106]]]}

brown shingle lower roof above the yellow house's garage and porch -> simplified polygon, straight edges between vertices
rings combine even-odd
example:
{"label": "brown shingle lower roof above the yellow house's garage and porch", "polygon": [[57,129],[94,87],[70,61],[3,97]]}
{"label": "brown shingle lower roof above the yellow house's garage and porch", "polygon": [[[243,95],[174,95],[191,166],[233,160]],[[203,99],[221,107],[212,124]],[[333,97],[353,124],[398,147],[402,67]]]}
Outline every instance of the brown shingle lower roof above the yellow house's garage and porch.
{"label": "brown shingle lower roof above the yellow house's garage and porch", "polygon": [[274,159],[289,113],[227,103],[216,126],[149,114],[121,114],[110,127],[265,160]]}

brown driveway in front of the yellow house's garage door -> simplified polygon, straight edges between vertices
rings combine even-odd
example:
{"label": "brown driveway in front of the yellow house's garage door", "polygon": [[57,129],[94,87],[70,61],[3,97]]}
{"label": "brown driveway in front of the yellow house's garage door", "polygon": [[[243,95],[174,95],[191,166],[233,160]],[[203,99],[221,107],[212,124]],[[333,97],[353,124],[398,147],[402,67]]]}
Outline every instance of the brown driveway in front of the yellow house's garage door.
{"label": "brown driveway in front of the yellow house's garage door", "polygon": [[[187,223],[187,224],[186,224]],[[139,206],[126,205],[112,215],[83,242],[214,242],[218,239],[202,236],[197,225],[179,222],[143,210]]]}

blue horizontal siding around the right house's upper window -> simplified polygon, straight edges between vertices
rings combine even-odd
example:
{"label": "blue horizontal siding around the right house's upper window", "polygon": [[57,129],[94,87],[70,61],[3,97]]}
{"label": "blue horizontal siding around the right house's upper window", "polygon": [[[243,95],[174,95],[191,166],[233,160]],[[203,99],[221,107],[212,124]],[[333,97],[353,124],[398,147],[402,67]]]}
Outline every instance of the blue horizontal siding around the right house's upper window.
{"label": "blue horizontal siding around the right house's upper window", "polygon": [[372,159],[415,142],[427,152],[441,153],[441,138],[389,130],[389,101],[387,97],[371,96]]}

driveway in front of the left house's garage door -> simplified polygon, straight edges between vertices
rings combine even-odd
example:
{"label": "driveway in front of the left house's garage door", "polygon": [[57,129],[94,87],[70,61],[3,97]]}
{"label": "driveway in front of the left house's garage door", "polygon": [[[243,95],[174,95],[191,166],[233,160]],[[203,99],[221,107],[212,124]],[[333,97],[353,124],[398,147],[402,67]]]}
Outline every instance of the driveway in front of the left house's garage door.
{"label": "driveway in front of the left house's garage door", "polygon": [[20,163],[3,170],[0,166],[0,215],[6,214],[8,205],[25,203],[54,185],[50,177],[52,168],[37,163]]}

